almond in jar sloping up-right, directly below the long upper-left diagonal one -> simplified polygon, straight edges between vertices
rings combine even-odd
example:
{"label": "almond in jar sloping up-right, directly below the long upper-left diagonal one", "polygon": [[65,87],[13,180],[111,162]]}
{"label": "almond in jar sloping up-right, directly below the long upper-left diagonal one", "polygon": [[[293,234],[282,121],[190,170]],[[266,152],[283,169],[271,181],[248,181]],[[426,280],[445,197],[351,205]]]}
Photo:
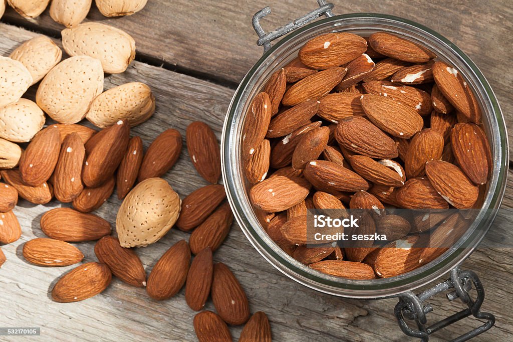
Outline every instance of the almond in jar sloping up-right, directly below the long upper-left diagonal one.
{"label": "almond in jar sloping up-right, directly below the long upper-left diagonal one", "polygon": [[292,133],[295,129],[309,123],[318,109],[319,101],[309,100],[282,111],[269,123],[266,137],[278,138]]}

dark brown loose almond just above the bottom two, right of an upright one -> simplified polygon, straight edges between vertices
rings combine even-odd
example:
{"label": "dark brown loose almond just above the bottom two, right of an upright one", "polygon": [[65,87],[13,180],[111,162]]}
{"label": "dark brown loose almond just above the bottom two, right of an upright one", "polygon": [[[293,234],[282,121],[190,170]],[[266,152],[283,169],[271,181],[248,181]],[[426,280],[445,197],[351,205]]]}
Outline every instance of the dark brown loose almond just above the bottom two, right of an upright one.
{"label": "dark brown loose almond just above the bottom two, right of an upright one", "polygon": [[211,296],[215,310],[228,324],[238,326],[249,319],[246,293],[235,275],[222,262],[214,264]]}

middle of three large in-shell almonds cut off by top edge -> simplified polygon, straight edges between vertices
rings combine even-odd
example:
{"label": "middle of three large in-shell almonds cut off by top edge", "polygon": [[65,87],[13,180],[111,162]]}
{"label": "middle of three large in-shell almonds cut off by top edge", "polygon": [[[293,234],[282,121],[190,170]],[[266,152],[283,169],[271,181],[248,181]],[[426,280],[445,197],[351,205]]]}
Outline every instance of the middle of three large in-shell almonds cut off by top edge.
{"label": "middle of three large in-shell almonds cut off by top edge", "polygon": [[92,0],[52,0],[50,16],[59,24],[73,27],[85,19],[91,3]]}

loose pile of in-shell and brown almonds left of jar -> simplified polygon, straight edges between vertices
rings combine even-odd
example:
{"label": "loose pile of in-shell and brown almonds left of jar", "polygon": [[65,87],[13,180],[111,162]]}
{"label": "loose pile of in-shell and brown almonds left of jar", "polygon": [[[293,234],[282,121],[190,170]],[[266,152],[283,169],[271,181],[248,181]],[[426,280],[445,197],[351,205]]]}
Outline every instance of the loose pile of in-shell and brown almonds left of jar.
{"label": "loose pile of in-shell and brown almonds left of jar", "polygon": [[[83,10],[76,10],[82,8],[77,3],[82,3]],[[9,4],[22,15],[34,17],[48,1],[10,0]],[[40,225],[47,237],[23,246],[23,256],[32,264],[63,267],[82,262],[84,255],[75,243],[97,240],[98,262],[82,263],[58,279],[51,292],[54,301],[90,298],[104,291],[113,275],[145,288],[155,300],[171,298],[185,285],[191,309],[201,311],[210,296],[217,311],[195,316],[200,341],[231,341],[227,324],[245,324],[241,341],[270,341],[267,316],[263,312],[250,316],[241,284],[225,264],[213,260],[233,221],[224,186],[218,184],[221,158],[214,132],[203,122],[187,127],[193,166],[211,184],[182,201],[161,178],[180,158],[182,135],[167,129],[146,151],[140,137],[130,136],[131,127],[153,115],[155,98],[139,82],[104,91],[104,73],[124,72],[134,59],[135,42],[128,33],[105,24],[79,24],[90,4],[52,1],[51,16],[69,26],[62,31],[69,58],[62,60],[62,50],[46,36],[0,57],[0,243],[12,243],[22,235],[13,212],[18,197],[35,204],[54,199],[70,203],[46,212]],[[132,14],[145,4],[96,1],[109,16]],[[38,82],[35,102],[22,98]],[[44,127],[45,114],[55,123]],[[83,125],[84,118],[100,130]],[[92,213],[114,188],[123,199],[116,236],[111,235],[108,221]],[[133,247],[158,241],[173,226],[191,233],[189,241],[172,245],[147,277]],[[0,266],[5,261],[0,249]]]}

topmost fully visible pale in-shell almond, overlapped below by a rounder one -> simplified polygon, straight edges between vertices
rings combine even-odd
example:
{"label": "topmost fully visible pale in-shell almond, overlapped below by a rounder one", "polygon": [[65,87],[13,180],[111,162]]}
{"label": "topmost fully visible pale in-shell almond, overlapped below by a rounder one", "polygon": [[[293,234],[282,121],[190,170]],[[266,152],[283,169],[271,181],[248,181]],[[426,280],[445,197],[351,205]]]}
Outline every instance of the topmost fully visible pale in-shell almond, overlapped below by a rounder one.
{"label": "topmost fully visible pale in-shell almond, overlapped below by a rounder one", "polygon": [[102,61],[107,73],[121,73],[135,57],[135,41],[125,31],[100,23],[84,23],[62,32],[70,56],[87,55]]}

